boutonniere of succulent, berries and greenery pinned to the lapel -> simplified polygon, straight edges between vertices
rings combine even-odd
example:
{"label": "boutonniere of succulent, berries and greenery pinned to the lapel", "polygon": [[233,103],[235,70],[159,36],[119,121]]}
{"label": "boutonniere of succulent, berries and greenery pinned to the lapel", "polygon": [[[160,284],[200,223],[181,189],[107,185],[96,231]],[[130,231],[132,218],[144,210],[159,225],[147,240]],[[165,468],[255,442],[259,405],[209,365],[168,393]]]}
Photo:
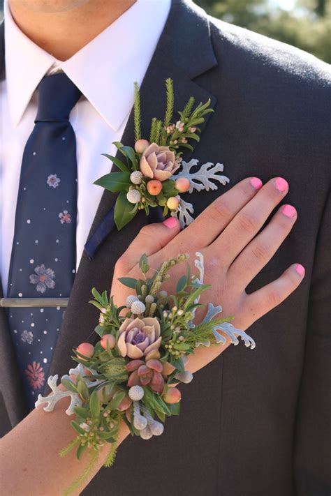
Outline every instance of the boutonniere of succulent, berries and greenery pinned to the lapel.
{"label": "boutonniere of succulent, berries and greenery pinned to the lapel", "polygon": [[210,100],[194,107],[193,96],[187,101],[184,110],[178,112],[174,121],[174,89],[170,78],[165,80],[166,108],[163,120],[152,119],[149,140],[141,135],[140,91],[134,84],[134,147],[115,142],[122,153],[123,160],[103,153],[119,169],[98,179],[95,184],[112,193],[119,193],[115,208],[114,220],[118,230],[127,225],[138,213],[156,206],[163,208],[163,216],[169,213],[177,216],[182,227],[189,225],[193,218],[193,205],[180,197],[181,193],[192,193],[193,190],[216,190],[217,183],[225,185],[228,177],[223,172],[223,164],[205,163],[198,165],[193,159],[188,163],[182,160],[182,149],[190,149],[192,140],[200,140],[200,124],[205,115],[214,112],[209,107]]}

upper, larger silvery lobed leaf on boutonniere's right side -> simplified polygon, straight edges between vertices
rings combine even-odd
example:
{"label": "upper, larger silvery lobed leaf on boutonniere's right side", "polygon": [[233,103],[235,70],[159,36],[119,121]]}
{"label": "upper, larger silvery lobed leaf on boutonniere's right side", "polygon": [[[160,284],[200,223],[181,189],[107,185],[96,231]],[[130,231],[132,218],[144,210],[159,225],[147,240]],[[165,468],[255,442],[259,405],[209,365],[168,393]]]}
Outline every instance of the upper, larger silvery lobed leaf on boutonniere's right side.
{"label": "upper, larger silvery lobed leaf on boutonniere's right side", "polygon": [[219,183],[226,186],[226,183],[230,182],[230,179],[226,176],[222,176],[218,174],[219,172],[223,172],[224,165],[220,163],[207,162],[200,166],[200,168],[196,172],[191,172],[191,168],[198,165],[199,160],[196,158],[192,158],[189,162],[182,161],[182,170],[180,170],[175,176],[172,176],[172,179],[179,179],[179,177],[185,177],[189,179],[191,186],[189,189],[189,193],[192,193],[193,190],[202,191],[202,190],[216,190],[218,186],[212,182],[219,181]]}

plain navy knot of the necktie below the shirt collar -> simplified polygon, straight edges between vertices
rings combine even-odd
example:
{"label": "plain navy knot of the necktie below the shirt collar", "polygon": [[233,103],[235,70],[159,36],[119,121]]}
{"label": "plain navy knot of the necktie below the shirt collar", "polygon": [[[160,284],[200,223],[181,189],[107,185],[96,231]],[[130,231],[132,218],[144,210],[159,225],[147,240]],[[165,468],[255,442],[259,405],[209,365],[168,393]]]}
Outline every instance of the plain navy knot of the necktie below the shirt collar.
{"label": "plain navy knot of the necktie below the shirt collar", "polygon": [[65,73],[45,76],[38,85],[38,121],[68,121],[82,92]]}

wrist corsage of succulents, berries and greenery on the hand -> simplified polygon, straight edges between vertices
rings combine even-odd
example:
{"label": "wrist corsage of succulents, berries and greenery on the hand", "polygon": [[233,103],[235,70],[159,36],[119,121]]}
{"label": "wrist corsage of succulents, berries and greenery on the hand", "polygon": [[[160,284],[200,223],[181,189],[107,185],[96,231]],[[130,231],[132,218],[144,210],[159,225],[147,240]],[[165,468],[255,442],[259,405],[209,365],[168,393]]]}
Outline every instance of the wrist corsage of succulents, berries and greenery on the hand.
{"label": "wrist corsage of succulents, berries and greenery on the hand", "polygon": [[133,290],[125,306],[117,307],[107,292],[92,290],[94,300],[90,303],[100,310],[95,329],[100,339],[95,345],[80,344],[72,357],[78,366],[61,377],[61,387],[57,386],[58,375],[48,377],[52,393],[39,395],[36,401],[36,407],[46,403],[43,409],[51,412],[58,400],[70,397],[66,414],[75,414],[71,425],[76,436],[60,455],[75,447],[78,459],[86,450],[91,455],[87,469],[66,494],[88,476],[105,443],[111,445],[105,466],[112,465],[121,421],[131,435],[142,439],[163,433],[165,417],[179,414],[182,394],[177,384],[191,382],[193,376],[185,364],[197,347],[225,344],[226,338],[219,331],[234,345],[239,336],[247,347],[255,347],[247,333],[230,324],[231,317],[219,317],[221,306],[208,303],[203,321],[194,323],[197,308],[204,307],[199,303],[200,295],[210,288],[203,283],[203,255],[196,255],[198,273],[191,276],[188,265],[175,294],[168,294],[163,283],[170,278],[170,269],[188,255],[163,262],[152,278],[146,276],[149,265],[147,256],[142,255],[141,278],[119,279]]}

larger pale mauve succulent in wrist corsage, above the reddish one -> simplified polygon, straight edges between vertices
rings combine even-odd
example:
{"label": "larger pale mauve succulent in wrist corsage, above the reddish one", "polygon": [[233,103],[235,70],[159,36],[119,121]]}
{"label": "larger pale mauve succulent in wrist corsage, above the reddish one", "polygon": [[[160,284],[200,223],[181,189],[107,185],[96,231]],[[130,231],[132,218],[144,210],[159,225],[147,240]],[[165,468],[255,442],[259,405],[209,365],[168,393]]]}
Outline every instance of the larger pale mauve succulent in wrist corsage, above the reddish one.
{"label": "larger pale mauve succulent in wrist corsage, above the reddish one", "polygon": [[161,345],[161,327],[154,317],[145,319],[126,319],[119,328],[117,346],[122,356],[140,359],[149,352],[159,350]]}

